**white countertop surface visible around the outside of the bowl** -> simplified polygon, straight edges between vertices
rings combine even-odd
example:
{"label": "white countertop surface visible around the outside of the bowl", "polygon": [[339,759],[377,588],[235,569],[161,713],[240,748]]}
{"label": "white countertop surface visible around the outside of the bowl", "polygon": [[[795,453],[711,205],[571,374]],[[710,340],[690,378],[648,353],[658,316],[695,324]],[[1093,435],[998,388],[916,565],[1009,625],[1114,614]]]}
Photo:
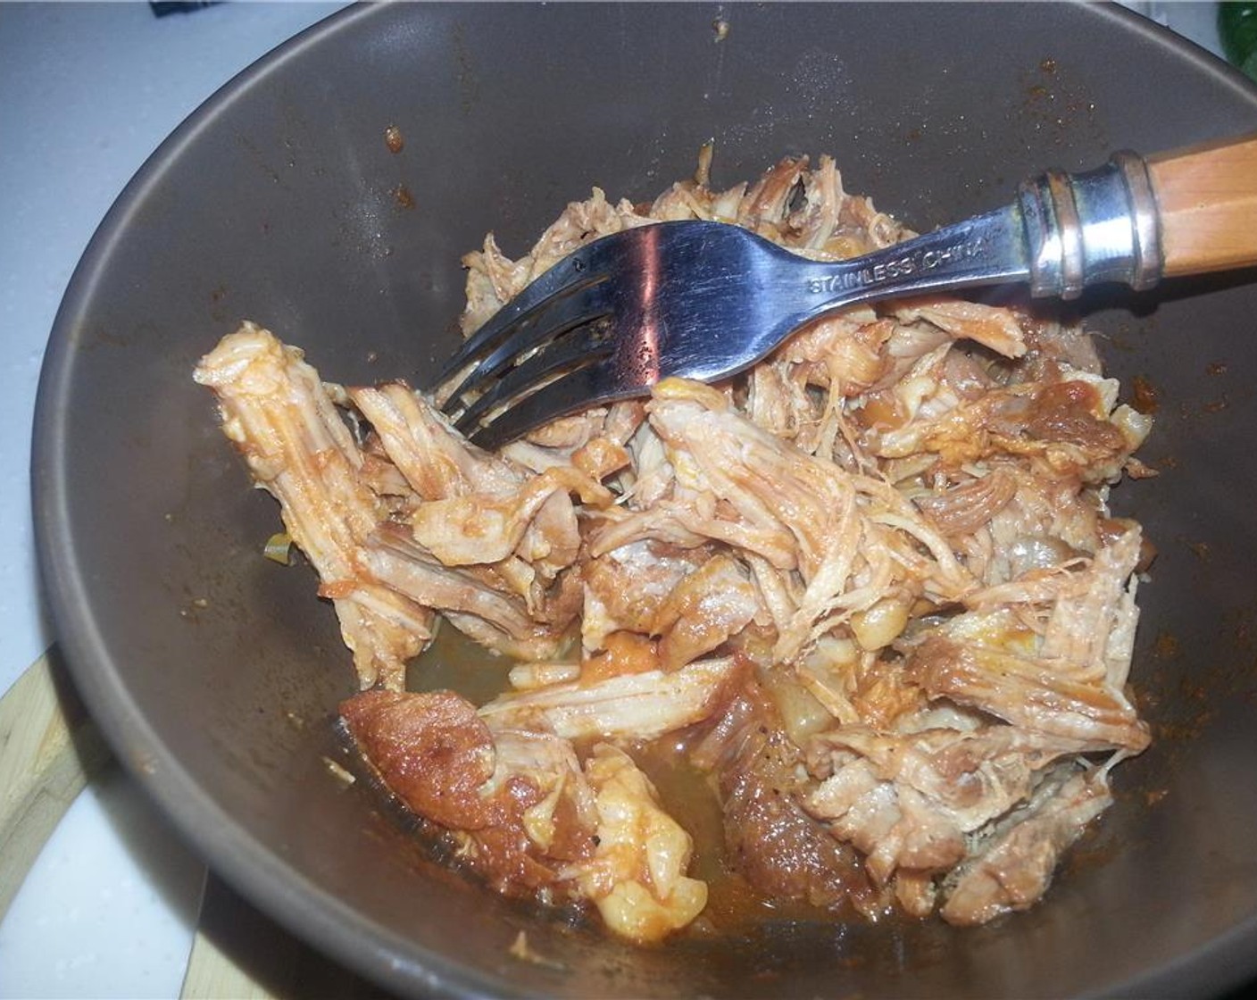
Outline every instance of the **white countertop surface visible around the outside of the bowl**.
{"label": "white countertop surface visible around the outside of the bowl", "polygon": [[[0,3],[0,691],[52,640],[31,538],[31,414],[74,265],[132,174],[254,59],[342,6]],[[1128,6],[1217,52],[1212,3]],[[74,804],[0,923],[4,997],[175,997],[204,868],[116,767]]]}

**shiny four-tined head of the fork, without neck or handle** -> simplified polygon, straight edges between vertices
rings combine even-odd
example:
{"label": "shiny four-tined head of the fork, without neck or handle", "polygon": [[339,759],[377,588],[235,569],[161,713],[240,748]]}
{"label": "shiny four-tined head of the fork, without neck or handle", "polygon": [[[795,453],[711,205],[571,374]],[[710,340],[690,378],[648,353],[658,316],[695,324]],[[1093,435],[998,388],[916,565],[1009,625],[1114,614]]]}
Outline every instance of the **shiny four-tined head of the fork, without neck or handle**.
{"label": "shiny four-tined head of the fork, without neck or handle", "polygon": [[781,294],[783,282],[802,287],[798,263],[725,223],[656,223],[593,240],[468,338],[437,379],[466,372],[442,410],[495,447],[669,376],[733,375],[798,325]]}

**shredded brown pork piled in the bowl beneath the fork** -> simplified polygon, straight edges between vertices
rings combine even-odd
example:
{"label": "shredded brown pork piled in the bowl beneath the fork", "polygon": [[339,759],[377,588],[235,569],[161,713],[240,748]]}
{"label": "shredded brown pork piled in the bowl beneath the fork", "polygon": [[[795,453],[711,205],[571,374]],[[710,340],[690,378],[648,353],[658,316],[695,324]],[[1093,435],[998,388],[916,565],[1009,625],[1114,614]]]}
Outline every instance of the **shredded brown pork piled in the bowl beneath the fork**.
{"label": "shredded brown pork piled in the bowl beneath the fork", "polygon": [[[813,259],[910,235],[828,157],[723,191],[701,170],[642,206],[595,190],[518,260],[491,235],[464,258],[464,332],[662,219]],[[634,758],[666,737],[767,897],[980,923],[1046,892],[1148,745],[1141,535],[1107,494],[1149,423],[1076,328],[943,297],[852,308],[737,380],[670,379],[497,454],[439,399],[324,384],[251,323],[195,377],[339,618],[349,735],[502,892],[592,904],[634,941],[693,922],[683,804]],[[510,689],[407,692],[437,616],[512,658]]]}

